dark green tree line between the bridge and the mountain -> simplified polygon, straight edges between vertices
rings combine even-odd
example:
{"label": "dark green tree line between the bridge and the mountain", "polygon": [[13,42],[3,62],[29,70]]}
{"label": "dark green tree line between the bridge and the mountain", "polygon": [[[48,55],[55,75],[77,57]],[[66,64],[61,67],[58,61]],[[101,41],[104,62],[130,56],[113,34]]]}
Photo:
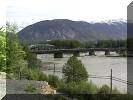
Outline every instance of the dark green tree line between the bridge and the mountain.
{"label": "dark green tree line between the bridge and the mountain", "polygon": [[127,40],[98,40],[81,42],[78,40],[51,40],[46,44],[54,45],[57,48],[119,48],[127,47]]}

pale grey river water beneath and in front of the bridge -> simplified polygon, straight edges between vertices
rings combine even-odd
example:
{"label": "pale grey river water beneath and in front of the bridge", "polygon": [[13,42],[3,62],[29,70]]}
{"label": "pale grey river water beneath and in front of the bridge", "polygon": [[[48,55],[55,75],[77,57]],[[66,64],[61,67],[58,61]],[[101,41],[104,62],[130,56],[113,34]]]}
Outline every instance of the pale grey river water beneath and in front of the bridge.
{"label": "pale grey river water beneath and in front of the bridge", "polygon": [[[111,52],[112,56],[117,56],[114,52]],[[63,76],[61,71],[63,65],[67,62],[72,55],[63,55],[63,58],[54,58],[53,55],[41,54],[37,55],[38,59],[43,62],[41,70],[46,74],[53,74],[55,64],[55,75],[60,78]],[[96,52],[96,56],[88,56],[88,53],[80,54],[78,57],[82,61],[88,74],[98,76],[110,76],[111,69],[113,77],[117,77],[123,80],[127,80],[127,58],[126,57],[106,57],[104,52]],[[103,84],[110,85],[110,79],[89,78],[98,87]],[[113,80],[113,87],[117,87],[122,93],[126,93],[127,85]]]}

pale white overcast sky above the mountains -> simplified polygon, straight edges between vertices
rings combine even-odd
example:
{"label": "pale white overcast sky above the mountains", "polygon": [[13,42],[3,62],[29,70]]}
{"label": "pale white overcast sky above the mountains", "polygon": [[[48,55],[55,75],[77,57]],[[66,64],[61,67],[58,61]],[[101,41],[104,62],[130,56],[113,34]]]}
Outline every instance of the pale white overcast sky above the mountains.
{"label": "pale white overcast sky above the mountains", "polygon": [[[87,22],[127,19],[132,0],[0,0],[0,23],[15,22],[19,27],[52,19]],[[1,3],[2,2],[2,3]],[[6,16],[6,18],[5,18]],[[0,24],[0,25],[1,25]]]}

